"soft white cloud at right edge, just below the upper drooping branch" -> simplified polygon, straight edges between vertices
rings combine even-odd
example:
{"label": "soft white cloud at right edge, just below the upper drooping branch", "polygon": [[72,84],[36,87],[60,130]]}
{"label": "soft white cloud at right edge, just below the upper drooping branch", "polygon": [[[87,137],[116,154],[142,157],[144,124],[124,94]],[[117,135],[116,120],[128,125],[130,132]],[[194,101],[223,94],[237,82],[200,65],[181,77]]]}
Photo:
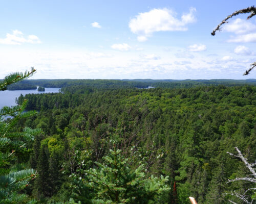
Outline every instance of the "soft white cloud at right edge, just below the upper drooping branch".
{"label": "soft white cloud at right edge, just below the upper drooping branch", "polygon": [[223,26],[223,31],[235,34],[245,34],[256,31],[256,25],[248,20],[237,18]]}

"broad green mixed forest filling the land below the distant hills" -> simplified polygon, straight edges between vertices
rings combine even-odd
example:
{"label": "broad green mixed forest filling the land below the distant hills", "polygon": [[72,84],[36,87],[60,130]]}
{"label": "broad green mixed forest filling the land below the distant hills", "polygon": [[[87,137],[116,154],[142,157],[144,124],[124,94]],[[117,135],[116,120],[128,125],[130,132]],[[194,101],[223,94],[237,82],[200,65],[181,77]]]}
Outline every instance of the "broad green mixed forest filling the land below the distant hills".
{"label": "broad green mixed forest filling the land below the distant hills", "polygon": [[[198,203],[229,198],[242,203],[225,192],[243,192],[253,183],[227,181],[250,172],[226,152],[235,153],[237,146],[248,161],[256,158],[255,90],[252,85],[106,89],[93,83],[67,86],[62,93],[21,95],[18,103],[27,101],[25,110],[38,114],[21,119],[15,129],[42,130],[15,161],[37,171],[25,192],[42,203],[70,198],[122,203],[106,193],[112,191],[120,191],[117,197],[126,203],[189,203],[188,196]],[[116,161],[120,175],[113,170]],[[121,178],[116,189],[111,173]],[[124,174],[143,188],[123,184]],[[151,179],[143,183],[140,176]],[[114,189],[105,189],[104,182]],[[122,194],[126,190],[133,192],[128,196],[133,201]]]}

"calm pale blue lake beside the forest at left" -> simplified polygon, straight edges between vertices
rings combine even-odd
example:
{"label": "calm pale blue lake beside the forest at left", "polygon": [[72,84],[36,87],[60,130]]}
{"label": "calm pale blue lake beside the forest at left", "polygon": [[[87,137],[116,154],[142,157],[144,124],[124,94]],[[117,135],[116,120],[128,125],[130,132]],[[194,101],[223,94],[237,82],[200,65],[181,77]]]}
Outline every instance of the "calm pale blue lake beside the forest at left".
{"label": "calm pale blue lake beside the forest at left", "polygon": [[44,94],[44,93],[58,93],[59,88],[45,88],[46,91],[40,92],[37,89],[32,90],[14,90],[14,91],[0,91],[0,109],[4,106],[15,106],[15,98],[18,98],[20,94],[24,96],[29,93]]}

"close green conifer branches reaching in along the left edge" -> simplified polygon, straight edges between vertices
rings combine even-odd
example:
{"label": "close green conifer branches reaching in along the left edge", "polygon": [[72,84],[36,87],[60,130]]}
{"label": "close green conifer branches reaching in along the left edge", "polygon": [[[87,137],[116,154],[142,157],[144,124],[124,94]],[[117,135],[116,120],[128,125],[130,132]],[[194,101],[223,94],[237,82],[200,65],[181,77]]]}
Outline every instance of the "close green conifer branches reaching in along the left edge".
{"label": "close green conifer branches reaching in along the left edge", "polygon": [[[7,89],[8,85],[22,81],[30,77],[36,70],[31,67],[31,71],[25,73],[16,72],[7,75],[0,82],[0,91]],[[28,186],[29,181],[34,178],[33,169],[20,169],[13,166],[16,152],[22,152],[26,149],[27,143],[34,139],[34,136],[40,134],[41,130],[25,128],[23,132],[13,130],[14,125],[19,119],[35,115],[35,111],[24,112],[27,101],[22,105],[14,107],[4,107],[0,111],[0,203],[35,203],[35,200],[28,198],[26,194],[20,193],[22,189]],[[12,116],[5,120],[4,117]]]}

